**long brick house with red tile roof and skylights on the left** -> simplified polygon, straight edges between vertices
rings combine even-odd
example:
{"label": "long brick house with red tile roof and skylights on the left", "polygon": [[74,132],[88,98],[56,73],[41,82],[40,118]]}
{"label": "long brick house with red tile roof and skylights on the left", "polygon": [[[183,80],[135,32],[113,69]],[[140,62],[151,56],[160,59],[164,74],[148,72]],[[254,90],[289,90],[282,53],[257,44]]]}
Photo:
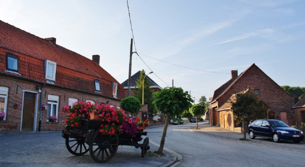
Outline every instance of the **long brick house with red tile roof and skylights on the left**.
{"label": "long brick house with red tile roof and skylights on the left", "polygon": [[[0,131],[61,130],[60,106],[76,101],[119,106],[124,87],[93,60],[0,20]],[[14,104],[18,103],[16,109]],[[49,122],[57,116],[56,122]]]}

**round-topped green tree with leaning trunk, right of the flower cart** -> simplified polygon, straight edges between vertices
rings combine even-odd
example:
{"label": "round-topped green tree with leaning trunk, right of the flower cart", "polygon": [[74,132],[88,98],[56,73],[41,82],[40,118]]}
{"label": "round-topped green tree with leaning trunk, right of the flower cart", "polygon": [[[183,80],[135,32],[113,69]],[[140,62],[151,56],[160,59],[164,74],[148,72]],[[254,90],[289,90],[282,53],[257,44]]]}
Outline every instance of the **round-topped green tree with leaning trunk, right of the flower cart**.
{"label": "round-topped green tree with leaning trunk, right of the flower cart", "polygon": [[181,115],[184,110],[187,110],[192,106],[192,102],[194,101],[191,98],[191,95],[189,95],[187,91],[184,92],[182,88],[166,87],[162,91],[154,93],[153,103],[159,112],[166,114],[163,134],[159,150],[156,152],[157,154],[163,154],[165,136],[170,117]]}

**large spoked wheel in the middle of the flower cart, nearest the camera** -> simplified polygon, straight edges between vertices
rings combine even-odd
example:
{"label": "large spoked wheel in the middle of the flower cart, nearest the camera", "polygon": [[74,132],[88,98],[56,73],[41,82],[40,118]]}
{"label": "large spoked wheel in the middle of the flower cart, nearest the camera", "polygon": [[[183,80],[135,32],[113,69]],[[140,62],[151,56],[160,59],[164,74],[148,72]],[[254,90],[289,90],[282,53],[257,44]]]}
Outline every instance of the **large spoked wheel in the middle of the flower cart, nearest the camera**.
{"label": "large spoked wheel in the middle of the flower cart, nearest the camera", "polygon": [[90,156],[97,162],[104,163],[109,161],[116,153],[118,148],[118,135],[102,134],[100,130],[94,134],[90,142]]}

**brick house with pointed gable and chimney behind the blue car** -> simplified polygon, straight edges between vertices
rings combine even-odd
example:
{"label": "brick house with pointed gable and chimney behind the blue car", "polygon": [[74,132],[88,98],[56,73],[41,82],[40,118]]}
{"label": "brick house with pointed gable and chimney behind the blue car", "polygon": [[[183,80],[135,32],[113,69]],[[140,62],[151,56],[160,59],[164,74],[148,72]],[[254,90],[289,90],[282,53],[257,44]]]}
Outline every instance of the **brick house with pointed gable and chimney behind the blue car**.
{"label": "brick house with pointed gable and chimney behind the blue car", "polygon": [[231,79],[215,90],[210,102],[210,125],[241,131],[240,127],[235,127],[233,112],[230,110],[228,100],[234,94],[250,88],[270,108],[266,113],[266,118],[282,120],[289,125],[294,124],[291,108],[295,104],[295,98],[284,91],[255,64],[252,64],[240,75],[237,70],[232,70]]}

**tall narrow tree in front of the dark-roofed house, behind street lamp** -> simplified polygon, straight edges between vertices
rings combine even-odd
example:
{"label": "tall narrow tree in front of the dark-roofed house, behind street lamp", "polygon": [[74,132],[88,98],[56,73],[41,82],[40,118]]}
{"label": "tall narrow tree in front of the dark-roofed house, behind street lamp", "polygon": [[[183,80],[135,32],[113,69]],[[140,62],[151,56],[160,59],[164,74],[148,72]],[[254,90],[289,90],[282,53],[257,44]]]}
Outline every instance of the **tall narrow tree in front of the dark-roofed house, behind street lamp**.
{"label": "tall narrow tree in front of the dark-roofed house, behind street lamp", "polygon": [[[145,71],[142,70],[140,72],[139,79],[136,81],[137,87],[134,89],[134,96],[140,100],[142,103],[142,97],[144,92],[144,104],[147,104],[148,108],[148,115],[153,116],[155,106],[153,104],[153,92],[150,90],[150,85],[148,82],[147,76],[145,77]],[[144,79],[144,83],[143,83]],[[144,90],[143,90],[143,84],[144,84]]]}

